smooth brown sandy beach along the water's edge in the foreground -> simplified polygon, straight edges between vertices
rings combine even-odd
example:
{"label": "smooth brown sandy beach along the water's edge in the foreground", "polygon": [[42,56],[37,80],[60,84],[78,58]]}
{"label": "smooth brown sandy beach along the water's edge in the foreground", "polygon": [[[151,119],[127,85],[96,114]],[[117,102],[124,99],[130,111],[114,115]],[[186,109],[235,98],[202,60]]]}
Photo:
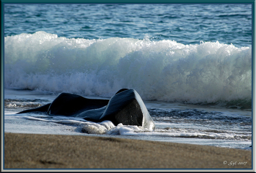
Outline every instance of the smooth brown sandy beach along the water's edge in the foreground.
{"label": "smooth brown sandy beach along the water's edge in the foreground", "polygon": [[250,169],[251,154],[156,141],[4,133],[4,169]]}

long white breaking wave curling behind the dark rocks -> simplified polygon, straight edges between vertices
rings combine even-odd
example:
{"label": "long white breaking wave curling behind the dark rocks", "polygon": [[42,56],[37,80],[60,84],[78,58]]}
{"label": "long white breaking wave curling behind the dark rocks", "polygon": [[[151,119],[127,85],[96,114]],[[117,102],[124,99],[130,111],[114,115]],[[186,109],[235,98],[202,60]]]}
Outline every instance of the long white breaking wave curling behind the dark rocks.
{"label": "long white breaking wave curling behind the dark rocks", "polygon": [[4,87],[144,100],[250,100],[252,49],[219,42],[184,45],[145,37],[88,40],[36,32],[4,38]]}

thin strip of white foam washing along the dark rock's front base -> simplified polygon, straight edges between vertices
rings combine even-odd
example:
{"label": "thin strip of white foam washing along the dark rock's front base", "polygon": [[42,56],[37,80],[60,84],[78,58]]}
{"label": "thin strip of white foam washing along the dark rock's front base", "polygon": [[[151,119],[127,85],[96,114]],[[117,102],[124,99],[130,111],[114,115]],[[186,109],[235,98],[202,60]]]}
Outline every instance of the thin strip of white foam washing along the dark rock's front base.
{"label": "thin strip of white foam washing along the dark rock's front base", "polygon": [[136,125],[122,125],[115,126],[111,121],[102,121],[101,123],[94,123],[86,121],[81,118],[72,118],[65,116],[20,116],[20,115],[8,115],[6,118],[21,118],[36,121],[46,121],[49,123],[74,125],[80,127],[83,133],[87,134],[106,134],[106,135],[124,135],[124,136],[165,136],[165,137],[183,137],[183,138],[211,138],[211,139],[240,139],[247,141],[251,138],[251,134],[239,133],[236,131],[218,130],[209,131],[195,130],[195,129],[180,129],[180,128],[168,128],[161,129],[156,128],[150,130],[142,128]]}

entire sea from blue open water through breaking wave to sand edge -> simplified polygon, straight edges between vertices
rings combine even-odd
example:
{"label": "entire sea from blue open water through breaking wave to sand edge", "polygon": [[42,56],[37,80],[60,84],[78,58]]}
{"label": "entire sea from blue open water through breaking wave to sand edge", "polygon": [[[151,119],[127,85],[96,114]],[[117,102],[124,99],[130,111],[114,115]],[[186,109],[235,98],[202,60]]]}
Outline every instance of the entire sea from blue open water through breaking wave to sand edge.
{"label": "entire sea from blue open water through breaking wave to sand edge", "polygon": [[[140,94],[150,131],[18,111]],[[250,149],[250,4],[4,4],[4,131]]]}

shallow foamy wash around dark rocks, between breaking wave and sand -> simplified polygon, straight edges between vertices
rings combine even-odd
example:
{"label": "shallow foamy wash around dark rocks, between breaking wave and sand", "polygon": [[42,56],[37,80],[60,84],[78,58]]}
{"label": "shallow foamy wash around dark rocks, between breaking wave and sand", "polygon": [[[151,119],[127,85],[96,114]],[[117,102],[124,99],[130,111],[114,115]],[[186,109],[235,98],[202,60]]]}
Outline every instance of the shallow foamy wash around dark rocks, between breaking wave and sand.
{"label": "shallow foamy wash around dark rocks, between breaking wave and sand", "polygon": [[[11,133],[113,136],[117,138],[169,141],[250,150],[251,111],[145,101],[156,129],[123,126],[105,121],[47,114],[15,114],[50,103],[57,95],[31,90],[5,89],[4,131]],[[40,99],[38,99],[40,98]],[[89,97],[93,98],[93,97]],[[99,98],[99,97],[98,97]],[[8,100],[8,101],[7,101]]]}

